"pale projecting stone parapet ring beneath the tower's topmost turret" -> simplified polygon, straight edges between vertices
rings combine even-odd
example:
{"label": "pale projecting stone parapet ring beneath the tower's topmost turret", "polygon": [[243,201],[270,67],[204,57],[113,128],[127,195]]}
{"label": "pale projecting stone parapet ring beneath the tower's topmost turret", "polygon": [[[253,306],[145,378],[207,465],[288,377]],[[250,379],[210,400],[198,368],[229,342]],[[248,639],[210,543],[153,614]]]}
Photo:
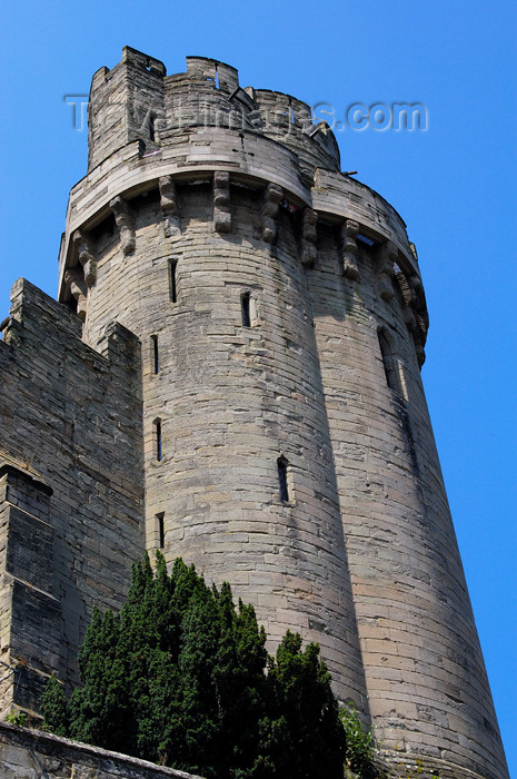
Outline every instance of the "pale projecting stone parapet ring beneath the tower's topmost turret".
{"label": "pale projecting stone parapet ring beneath the tower's topmost turret", "polygon": [[[274,141],[268,140],[267,142],[272,144]],[[125,152],[128,154],[127,148]],[[156,160],[156,158],[150,158],[150,160]],[[379,243],[387,239],[390,240],[398,247],[399,264],[406,276],[419,277],[418,264],[415,254],[409,248],[404,221],[389,204],[385,203],[379,195],[359,181],[351,180],[335,171],[317,168],[315,170],[315,186],[311,189],[306,189],[301,187],[299,181],[291,180],[289,177],[286,178],[284,171],[278,171],[278,176],[274,175],[277,171],[267,171],[266,177],[265,170],[250,169],[245,172],[240,171],[238,166],[231,167],[230,162],[221,161],[218,164],[217,159],[211,159],[201,166],[198,164],[190,170],[188,166],[180,169],[178,161],[175,159],[160,159],[146,164],[138,172],[132,169],[121,171],[120,176],[113,177],[112,186],[109,187],[108,191],[103,180],[97,183],[97,176],[93,175],[96,171],[87,176],[73,188],[67,215],[67,231],[60,252],[61,302],[69,299],[69,293],[67,287],[63,287],[63,284],[67,268],[74,263],[76,247],[73,246],[72,236],[76,230],[82,230],[82,234],[88,236],[88,230],[100,224],[111,210],[120,230],[122,249],[125,254],[130,254],[135,249],[136,241],[135,215],[130,208],[130,199],[143,191],[159,189],[163,221],[168,223],[168,227],[166,225],[165,227],[172,237],[176,230],[175,223],[178,218],[177,213],[175,213],[175,195],[178,181],[188,181],[207,174],[221,174],[220,177],[217,176],[217,185],[220,183],[222,186],[215,186],[215,189],[220,190],[215,193],[215,199],[219,199],[220,194],[221,207],[218,207],[219,213],[215,216],[222,230],[225,227],[230,227],[229,201],[225,203],[229,194],[226,190],[226,181],[229,180],[228,167],[231,168],[231,178],[236,181],[242,180],[247,184],[255,184],[259,188],[265,187],[262,238],[266,243],[275,243],[276,217],[279,205],[277,200],[281,193],[281,197],[290,198],[297,203],[298,207],[315,211],[321,221],[342,224],[344,220],[350,220],[350,223],[357,223],[360,229],[365,230],[375,240]],[[100,175],[101,170],[97,172]],[[128,185],[130,185],[129,188]],[[99,187],[101,189],[97,191]],[[376,208],[378,201],[381,201],[385,206],[387,214],[385,220],[378,215],[378,209]],[[79,214],[81,215],[80,219],[77,216]],[[308,249],[308,254],[305,257],[307,262],[310,260],[311,254],[311,249]],[[347,268],[347,273],[354,274],[354,269],[350,267],[350,270],[348,270]]]}

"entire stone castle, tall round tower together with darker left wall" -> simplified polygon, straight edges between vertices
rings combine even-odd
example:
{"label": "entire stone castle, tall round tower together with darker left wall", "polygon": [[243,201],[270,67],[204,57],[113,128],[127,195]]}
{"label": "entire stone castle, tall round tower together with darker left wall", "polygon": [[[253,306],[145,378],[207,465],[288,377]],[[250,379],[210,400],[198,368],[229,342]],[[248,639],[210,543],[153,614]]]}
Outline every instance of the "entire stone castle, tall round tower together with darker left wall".
{"label": "entire stone castle, tall round tower together with darker left wall", "polygon": [[1,325],[6,706],[77,678],[92,604],[161,549],[229,581],[272,644],[317,641],[389,759],[507,777],[416,250],[329,128],[221,62],[167,76],[125,48],[93,76],[59,300],[20,280]]}

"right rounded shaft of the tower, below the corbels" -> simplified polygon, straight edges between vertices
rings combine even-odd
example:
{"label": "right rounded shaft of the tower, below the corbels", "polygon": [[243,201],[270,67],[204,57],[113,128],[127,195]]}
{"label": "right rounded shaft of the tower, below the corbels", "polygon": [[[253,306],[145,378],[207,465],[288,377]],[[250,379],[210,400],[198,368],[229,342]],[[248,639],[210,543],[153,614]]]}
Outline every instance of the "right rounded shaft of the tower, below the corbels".
{"label": "right rounded shaft of the tower, below the corbels", "polygon": [[[331,235],[320,235],[318,249],[310,274],[316,338],[378,738],[385,748],[504,776],[402,308],[397,295],[385,302],[375,294],[375,250],[359,253],[359,277],[350,280],[336,273],[339,252]],[[389,334],[399,371],[396,388],[387,383],[379,327]]]}

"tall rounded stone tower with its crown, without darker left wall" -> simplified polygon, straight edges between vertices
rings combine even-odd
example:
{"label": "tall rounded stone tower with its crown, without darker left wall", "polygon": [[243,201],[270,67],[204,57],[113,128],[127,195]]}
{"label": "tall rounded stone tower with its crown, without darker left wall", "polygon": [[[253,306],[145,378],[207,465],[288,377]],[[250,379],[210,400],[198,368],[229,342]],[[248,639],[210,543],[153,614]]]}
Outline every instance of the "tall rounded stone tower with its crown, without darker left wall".
{"label": "tall rounded stone tower with its crown, without darker left wall", "polygon": [[[146,538],[317,641],[391,759],[507,777],[420,381],[415,247],[308,106],[125,48],[60,299],[142,345]],[[136,421],[137,424],[137,421]]]}

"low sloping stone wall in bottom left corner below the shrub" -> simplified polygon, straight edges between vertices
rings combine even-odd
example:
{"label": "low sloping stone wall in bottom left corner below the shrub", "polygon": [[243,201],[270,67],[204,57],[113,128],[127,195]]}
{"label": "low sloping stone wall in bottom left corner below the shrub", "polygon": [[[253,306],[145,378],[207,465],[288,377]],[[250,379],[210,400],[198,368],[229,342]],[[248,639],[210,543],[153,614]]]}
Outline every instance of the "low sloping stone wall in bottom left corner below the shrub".
{"label": "low sloping stone wall in bottom left corner below the shrub", "polygon": [[100,747],[0,722],[2,779],[201,779]]}

